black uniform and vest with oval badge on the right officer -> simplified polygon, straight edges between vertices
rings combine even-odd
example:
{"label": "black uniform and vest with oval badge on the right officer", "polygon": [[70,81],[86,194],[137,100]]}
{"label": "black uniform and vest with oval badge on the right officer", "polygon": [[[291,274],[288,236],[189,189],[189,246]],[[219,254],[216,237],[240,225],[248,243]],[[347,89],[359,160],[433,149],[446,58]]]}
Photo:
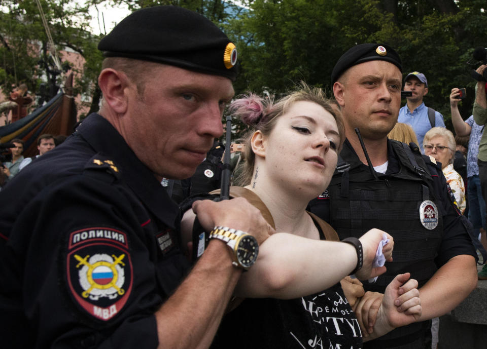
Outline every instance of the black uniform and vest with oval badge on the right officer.
{"label": "black uniform and vest with oval badge on the right officer", "polygon": [[[409,170],[413,166],[407,160],[404,146],[407,147],[388,140],[387,172],[378,174],[378,180],[374,181],[369,167],[360,162],[350,142],[345,141],[340,156],[352,164],[350,170],[345,171],[348,173],[335,171],[329,188],[308,205],[309,211],[332,225],[340,239],[360,237],[372,227],[386,230],[394,237],[394,261],[386,263],[388,271],[376,283],[364,283],[366,291],[384,293],[397,274],[406,272],[421,287],[450,258],[462,254],[477,258],[467,222],[448,196],[441,168],[429,158],[416,154],[414,159],[419,158],[429,174],[421,177],[414,173],[416,170]],[[413,155],[410,149],[409,155]],[[353,178],[357,177],[361,178],[354,179],[354,183]],[[416,188],[415,191],[409,190],[409,186]],[[420,221],[422,203],[429,200],[437,206],[438,226],[434,229],[427,229]],[[346,203],[347,207],[337,210],[335,202]],[[413,323],[364,343],[364,348],[423,347],[429,334],[429,322]]]}

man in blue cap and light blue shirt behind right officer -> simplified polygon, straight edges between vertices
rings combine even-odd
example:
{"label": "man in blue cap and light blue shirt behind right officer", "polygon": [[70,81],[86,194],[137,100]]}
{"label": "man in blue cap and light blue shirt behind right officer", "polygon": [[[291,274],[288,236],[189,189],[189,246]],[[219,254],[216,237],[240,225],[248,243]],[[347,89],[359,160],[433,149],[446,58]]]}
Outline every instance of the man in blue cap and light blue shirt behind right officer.
{"label": "man in blue cap and light blue shirt behind right officer", "polygon": [[398,123],[411,125],[418,137],[418,144],[424,153],[423,139],[426,132],[433,127],[445,127],[443,115],[438,111],[427,107],[423,97],[428,93],[428,80],[419,71],[413,71],[406,75],[404,91],[410,91],[411,96],[406,97],[406,105],[399,110]]}

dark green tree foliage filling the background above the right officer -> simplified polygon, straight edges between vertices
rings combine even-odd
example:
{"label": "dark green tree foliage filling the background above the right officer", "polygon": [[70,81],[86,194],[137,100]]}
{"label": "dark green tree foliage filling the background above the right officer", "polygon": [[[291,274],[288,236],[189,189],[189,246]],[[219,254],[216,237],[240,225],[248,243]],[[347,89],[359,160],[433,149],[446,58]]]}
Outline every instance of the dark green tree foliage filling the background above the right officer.
{"label": "dark green tree foliage filling the background above the right officer", "polygon": [[[468,117],[475,82],[466,64],[487,46],[483,0],[255,0],[225,26],[237,42],[242,73],[238,92],[283,92],[298,80],[326,87],[337,59],[350,47],[386,43],[402,57],[404,73],[428,77],[426,104],[450,119],[448,96],[467,87],[460,106]],[[405,100],[403,101],[405,103]]]}

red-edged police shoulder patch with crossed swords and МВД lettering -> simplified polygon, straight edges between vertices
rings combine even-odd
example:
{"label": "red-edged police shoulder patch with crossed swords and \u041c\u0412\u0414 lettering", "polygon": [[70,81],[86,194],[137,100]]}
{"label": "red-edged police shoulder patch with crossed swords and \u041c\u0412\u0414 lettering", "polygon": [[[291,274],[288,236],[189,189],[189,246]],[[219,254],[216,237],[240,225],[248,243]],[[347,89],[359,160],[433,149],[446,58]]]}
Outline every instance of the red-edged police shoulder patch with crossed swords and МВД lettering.
{"label": "red-edged police shoulder patch with crossed swords and \u041c\u0412\u0414 lettering", "polygon": [[132,290],[133,267],[127,236],[107,227],[90,227],[69,235],[66,278],[69,293],[85,313],[113,319]]}

